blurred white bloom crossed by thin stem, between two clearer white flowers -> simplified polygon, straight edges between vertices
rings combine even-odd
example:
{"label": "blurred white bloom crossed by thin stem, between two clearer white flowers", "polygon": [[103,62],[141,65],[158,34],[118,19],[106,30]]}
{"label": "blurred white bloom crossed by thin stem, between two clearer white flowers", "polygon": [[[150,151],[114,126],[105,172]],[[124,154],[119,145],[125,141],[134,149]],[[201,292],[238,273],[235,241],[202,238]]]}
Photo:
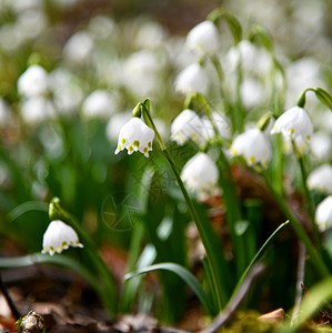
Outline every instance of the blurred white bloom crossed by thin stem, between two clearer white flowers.
{"label": "blurred white bloom crossed by thin stem, between two clearer white flowers", "polygon": [[[230,121],[222,115],[220,112],[212,112],[212,121],[215,125],[217,132],[221,138],[230,139],[231,138],[231,123]],[[202,118],[203,122],[203,137],[209,140],[215,135],[213,125],[208,117]]]}

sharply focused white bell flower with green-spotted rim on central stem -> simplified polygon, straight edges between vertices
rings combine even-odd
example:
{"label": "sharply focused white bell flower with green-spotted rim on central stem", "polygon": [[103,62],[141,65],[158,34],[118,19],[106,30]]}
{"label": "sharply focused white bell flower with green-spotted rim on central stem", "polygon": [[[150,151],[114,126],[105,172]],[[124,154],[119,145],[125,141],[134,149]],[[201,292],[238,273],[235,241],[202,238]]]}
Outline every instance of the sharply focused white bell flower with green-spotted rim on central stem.
{"label": "sharply focused white bell flower with green-spotted rim on central stem", "polygon": [[149,151],[152,150],[153,138],[154,131],[142,120],[133,117],[120,130],[115,154],[125,148],[128,154],[140,151],[145,158],[149,158]]}

